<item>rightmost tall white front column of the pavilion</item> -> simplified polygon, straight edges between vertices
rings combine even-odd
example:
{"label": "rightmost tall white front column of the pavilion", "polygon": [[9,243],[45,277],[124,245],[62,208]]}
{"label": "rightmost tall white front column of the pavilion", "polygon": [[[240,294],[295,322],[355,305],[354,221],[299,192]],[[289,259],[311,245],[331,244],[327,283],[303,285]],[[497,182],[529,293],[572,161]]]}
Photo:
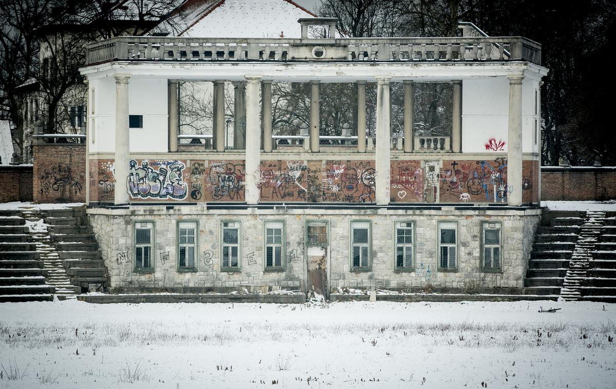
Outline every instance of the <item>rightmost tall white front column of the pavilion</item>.
{"label": "rightmost tall white front column of the pavilion", "polygon": [[509,132],[507,145],[507,203],[522,205],[522,80],[509,79]]}

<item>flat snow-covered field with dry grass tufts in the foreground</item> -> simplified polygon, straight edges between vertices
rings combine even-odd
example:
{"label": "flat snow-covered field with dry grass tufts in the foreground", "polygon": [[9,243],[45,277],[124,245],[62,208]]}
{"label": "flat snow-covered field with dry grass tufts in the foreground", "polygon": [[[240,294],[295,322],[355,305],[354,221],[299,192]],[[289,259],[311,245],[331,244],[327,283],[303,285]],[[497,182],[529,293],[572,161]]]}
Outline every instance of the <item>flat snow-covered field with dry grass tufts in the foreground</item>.
{"label": "flat snow-covered field with dry grass tufts in the foreground", "polygon": [[0,363],[26,375],[0,386],[614,388],[615,321],[590,302],[2,303]]}

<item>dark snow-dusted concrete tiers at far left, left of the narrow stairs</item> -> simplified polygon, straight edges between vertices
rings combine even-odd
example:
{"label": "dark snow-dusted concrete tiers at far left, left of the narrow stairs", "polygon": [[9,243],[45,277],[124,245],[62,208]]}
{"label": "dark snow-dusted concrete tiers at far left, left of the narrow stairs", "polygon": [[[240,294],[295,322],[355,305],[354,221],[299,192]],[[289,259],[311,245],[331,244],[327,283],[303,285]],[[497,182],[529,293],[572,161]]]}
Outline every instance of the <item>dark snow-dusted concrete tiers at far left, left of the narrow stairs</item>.
{"label": "dark snow-dusted concrete tiers at far left, left of the narrow stairs", "polygon": [[21,211],[0,211],[0,302],[52,301],[54,286]]}

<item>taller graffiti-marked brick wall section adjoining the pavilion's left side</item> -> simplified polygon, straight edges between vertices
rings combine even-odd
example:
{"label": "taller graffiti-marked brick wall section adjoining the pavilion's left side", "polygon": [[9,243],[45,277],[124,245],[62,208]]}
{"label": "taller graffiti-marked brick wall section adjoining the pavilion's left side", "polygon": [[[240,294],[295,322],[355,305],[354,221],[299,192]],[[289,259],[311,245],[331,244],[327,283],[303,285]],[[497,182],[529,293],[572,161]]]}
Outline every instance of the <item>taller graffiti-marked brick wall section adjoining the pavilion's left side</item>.
{"label": "taller graffiti-marked brick wall section adjoining the pavilion's left side", "polygon": [[86,201],[86,145],[44,143],[33,145],[32,154],[35,203]]}

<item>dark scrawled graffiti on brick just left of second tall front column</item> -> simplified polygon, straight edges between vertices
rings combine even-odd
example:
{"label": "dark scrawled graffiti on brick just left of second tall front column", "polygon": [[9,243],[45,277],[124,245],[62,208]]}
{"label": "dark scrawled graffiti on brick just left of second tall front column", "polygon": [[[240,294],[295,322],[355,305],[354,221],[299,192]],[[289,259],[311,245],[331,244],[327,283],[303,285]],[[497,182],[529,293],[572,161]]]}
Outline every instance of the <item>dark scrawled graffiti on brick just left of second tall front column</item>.
{"label": "dark scrawled graffiti on brick just left of second tall front column", "polygon": [[211,162],[207,170],[208,186],[214,200],[244,199],[244,164],[225,161]]}

